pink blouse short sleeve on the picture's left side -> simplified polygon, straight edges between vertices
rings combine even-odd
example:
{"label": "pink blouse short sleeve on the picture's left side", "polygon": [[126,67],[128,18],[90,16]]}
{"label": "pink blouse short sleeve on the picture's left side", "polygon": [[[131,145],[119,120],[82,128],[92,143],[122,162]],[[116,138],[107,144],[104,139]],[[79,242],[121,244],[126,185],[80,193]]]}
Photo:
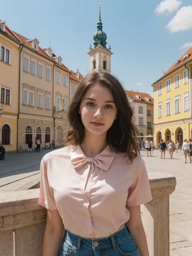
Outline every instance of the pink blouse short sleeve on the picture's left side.
{"label": "pink blouse short sleeve on the picture's left side", "polygon": [[49,181],[47,177],[47,161],[45,157],[43,157],[43,159],[41,160],[40,166],[40,193],[38,203],[49,210],[58,209],[55,203],[53,191],[49,186]]}

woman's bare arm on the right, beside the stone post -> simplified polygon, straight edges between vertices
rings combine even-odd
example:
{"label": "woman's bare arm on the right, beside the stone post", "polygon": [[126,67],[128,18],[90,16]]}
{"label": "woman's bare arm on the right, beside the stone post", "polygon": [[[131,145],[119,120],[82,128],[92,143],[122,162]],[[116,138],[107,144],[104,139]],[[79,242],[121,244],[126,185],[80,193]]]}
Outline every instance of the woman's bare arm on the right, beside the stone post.
{"label": "woman's bare arm on the right, beside the stone post", "polygon": [[141,207],[139,206],[126,206],[130,212],[130,219],[126,223],[130,233],[138,246],[141,256],[149,256],[149,250],[147,246],[147,239],[145,230],[143,228],[141,220]]}

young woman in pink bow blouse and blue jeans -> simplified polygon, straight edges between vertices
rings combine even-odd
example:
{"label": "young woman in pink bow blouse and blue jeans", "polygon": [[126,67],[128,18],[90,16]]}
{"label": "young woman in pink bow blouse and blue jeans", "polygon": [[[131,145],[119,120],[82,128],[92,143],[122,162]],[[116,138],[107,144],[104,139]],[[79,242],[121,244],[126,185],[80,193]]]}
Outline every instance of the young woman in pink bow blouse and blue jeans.
{"label": "young woman in pink bow blouse and blue jeans", "polygon": [[121,83],[92,72],[68,110],[66,147],[41,162],[43,256],[149,256],[140,205],[152,200]]}

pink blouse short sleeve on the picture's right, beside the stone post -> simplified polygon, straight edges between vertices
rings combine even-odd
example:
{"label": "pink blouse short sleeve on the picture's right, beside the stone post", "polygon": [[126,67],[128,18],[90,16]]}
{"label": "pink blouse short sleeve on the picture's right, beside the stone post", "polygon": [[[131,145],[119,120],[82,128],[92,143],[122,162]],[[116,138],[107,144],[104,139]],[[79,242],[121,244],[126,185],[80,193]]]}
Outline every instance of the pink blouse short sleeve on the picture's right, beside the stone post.
{"label": "pink blouse short sleeve on the picture's right, beside the stone post", "polygon": [[152,200],[151,188],[145,163],[140,158],[139,167],[135,173],[135,178],[129,188],[127,206],[137,206],[148,203]]}

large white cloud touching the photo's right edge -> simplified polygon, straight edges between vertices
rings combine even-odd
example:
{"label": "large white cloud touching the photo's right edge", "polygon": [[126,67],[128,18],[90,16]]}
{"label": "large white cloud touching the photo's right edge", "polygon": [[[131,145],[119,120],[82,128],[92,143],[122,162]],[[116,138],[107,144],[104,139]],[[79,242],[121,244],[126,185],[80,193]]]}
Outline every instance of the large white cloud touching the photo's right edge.
{"label": "large white cloud touching the photo's right edge", "polygon": [[166,25],[171,33],[189,30],[192,28],[192,6],[183,6],[175,17]]}

